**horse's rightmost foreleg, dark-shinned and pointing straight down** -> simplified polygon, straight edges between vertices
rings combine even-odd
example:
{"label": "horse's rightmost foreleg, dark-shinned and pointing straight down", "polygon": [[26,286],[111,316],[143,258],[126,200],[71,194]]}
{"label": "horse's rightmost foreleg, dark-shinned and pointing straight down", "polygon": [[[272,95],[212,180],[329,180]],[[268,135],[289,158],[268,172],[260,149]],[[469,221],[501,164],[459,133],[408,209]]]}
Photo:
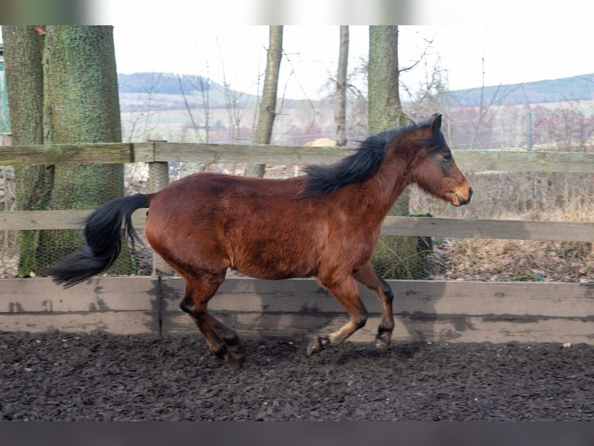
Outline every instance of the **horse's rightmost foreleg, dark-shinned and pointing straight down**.
{"label": "horse's rightmost foreleg, dark-shinned and pointing straight down", "polygon": [[390,285],[377,275],[371,263],[367,262],[355,274],[355,280],[365,285],[369,290],[375,291],[381,299],[381,322],[375,335],[375,346],[380,350],[386,350],[390,346],[390,338],[394,329],[394,313],[392,311],[392,300],[394,293]]}

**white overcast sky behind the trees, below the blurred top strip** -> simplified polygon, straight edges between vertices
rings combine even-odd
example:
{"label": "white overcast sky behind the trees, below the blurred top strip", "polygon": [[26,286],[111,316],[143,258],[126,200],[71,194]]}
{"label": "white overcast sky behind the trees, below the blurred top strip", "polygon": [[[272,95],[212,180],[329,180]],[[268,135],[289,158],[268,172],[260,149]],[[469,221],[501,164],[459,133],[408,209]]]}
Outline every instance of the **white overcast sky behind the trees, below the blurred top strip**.
{"label": "white overcast sky behind the trees, below the blurred top strip", "polygon": [[[594,57],[587,48],[590,26],[579,24],[532,26],[400,26],[399,57],[407,67],[425,51],[430,68],[438,58],[447,70],[450,89],[479,87],[482,59],[485,84],[520,83],[594,72]],[[139,35],[142,35],[139,38]],[[118,71],[169,71],[208,74],[221,82],[223,73],[232,88],[253,92],[266,63],[267,26],[175,26],[164,24],[159,33],[143,34],[143,26],[116,24],[114,29]],[[338,26],[285,26],[280,83],[289,98],[315,99],[329,75],[336,74]],[[368,27],[350,26],[349,65],[355,67],[368,54]],[[411,87],[421,82],[424,63],[406,73]]]}

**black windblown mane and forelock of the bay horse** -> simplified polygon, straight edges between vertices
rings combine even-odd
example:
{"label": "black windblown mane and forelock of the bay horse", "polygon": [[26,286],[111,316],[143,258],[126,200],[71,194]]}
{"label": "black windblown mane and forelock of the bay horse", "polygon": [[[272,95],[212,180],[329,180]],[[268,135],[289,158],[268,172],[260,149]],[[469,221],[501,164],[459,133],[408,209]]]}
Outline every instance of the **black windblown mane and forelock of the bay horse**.
{"label": "black windblown mane and forelock of the bay horse", "polygon": [[[346,156],[346,158],[335,164],[305,166],[304,170],[307,172],[305,186],[299,193],[298,198],[318,197],[346,184],[366,180],[377,172],[384,159],[386,147],[390,146],[394,140],[402,138],[405,134],[427,125],[429,125],[429,121],[419,124],[412,123],[406,127],[391,128],[359,142],[359,146],[352,155]],[[443,147],[445,140],[441,131],[437,131],[420,143],[426,147]]]}

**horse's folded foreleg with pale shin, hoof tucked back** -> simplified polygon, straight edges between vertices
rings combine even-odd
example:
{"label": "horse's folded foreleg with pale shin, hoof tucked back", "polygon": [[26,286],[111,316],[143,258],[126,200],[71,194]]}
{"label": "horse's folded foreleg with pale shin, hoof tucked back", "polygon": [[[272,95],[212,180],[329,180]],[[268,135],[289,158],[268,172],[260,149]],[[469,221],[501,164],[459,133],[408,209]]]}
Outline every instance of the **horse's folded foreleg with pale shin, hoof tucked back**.
{"label": "horse's folded foreleg with pale shin, hoof tucked back", "polygon": [[318,353],[328,347],[334,347],[342,343],[346,338],[365,325],[367,320],[367,311],[359,296],[359,290],[355,279],[347,276],[345,279],[337,281],[336,279],[320,279],[330,293],[342,304],[349,312],[350,321],[339,330],[324,337],[313,338],[307,347],[308,356]]}

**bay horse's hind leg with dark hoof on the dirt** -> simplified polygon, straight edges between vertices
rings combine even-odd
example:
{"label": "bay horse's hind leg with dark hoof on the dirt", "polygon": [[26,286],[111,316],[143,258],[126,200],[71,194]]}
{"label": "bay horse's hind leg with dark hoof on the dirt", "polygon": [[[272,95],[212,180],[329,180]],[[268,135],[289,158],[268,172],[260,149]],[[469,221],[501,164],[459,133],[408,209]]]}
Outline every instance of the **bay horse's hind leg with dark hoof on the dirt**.
{"label": "bay horse's hind leg with dark hoof on the dirt", "polygon": [[179,305],[194,320],[203,334],[208,347],[227,365],[239,365],[245,356],[245,348],[235,330],[230,329],[207,310],[208,301],[225,280],[222,274],[201,274],[186,278],[186,293]]}

